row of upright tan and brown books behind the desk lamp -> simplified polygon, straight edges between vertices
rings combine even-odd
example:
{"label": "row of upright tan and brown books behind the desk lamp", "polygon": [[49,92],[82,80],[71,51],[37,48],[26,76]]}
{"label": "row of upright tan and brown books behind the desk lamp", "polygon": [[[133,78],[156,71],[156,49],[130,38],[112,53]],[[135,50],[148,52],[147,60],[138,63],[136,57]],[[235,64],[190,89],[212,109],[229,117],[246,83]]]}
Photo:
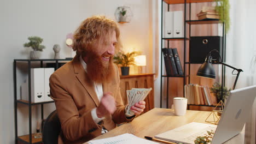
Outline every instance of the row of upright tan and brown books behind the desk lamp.
{"label": "row of upright tan and brown books behind the desk lamp", "polygon": [[217,105],[217,98],[210,92],[209,87],[189,84],[184,86],[184,91],[188,104]]}

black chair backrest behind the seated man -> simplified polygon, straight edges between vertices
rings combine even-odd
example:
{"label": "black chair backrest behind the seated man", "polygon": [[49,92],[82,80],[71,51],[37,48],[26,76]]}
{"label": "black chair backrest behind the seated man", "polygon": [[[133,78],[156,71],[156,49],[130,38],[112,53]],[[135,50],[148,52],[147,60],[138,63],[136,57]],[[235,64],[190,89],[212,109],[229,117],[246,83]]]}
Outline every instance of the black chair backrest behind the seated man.
{"label": "black chair backrest behind the seated man", "polygon": [[58,137],[61,131],[60,119],[57,115],[57,111],[54,110],[46,118],[43,127],[43,142],[44,144],[56,144],[58,143]]}

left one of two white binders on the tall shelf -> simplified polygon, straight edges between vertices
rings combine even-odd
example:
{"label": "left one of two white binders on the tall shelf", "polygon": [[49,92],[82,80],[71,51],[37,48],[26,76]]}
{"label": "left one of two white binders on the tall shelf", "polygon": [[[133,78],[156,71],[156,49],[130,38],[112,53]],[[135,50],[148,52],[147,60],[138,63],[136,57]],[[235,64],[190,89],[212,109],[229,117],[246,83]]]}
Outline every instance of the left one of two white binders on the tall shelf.
{"label": "left one of two white binders on the tall shelf", "polygon": [[165,12],[165,38],[173,38],[173,11]]}

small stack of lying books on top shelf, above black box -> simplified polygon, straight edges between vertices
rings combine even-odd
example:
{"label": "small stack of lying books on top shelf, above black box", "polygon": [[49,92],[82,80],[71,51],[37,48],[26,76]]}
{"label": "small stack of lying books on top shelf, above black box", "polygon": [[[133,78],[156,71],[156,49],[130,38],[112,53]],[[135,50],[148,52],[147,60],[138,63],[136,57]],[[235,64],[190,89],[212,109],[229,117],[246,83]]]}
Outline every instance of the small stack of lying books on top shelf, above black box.
{"label": "small stack of lying books on top shelf, above black box", "polygon": [[203,7],[200,13],[197,14],[199,20],[219,19],[219,13],[214,7]]}

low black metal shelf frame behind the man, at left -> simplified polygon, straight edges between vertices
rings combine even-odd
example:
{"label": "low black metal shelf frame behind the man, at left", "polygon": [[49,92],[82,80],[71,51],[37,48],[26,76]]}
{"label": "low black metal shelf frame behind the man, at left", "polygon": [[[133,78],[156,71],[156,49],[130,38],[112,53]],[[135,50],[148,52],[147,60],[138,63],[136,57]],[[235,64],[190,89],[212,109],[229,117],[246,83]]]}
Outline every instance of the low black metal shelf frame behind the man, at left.
{"label": "low black metal shelf frame behind the man, at left", "polygon": [[[40,62],[40,68],[43,68],[43,62],[44,61],[55,61],[55,70],[59,68],[59,61],[70,61],[71,59],[14,59],[13,62],[13,81],[14,81],[14,122],[15,122],[15,144],[18,143],[18,140],[21,142],[26,141],[20,139],[18,137],[18,118],[17,118],[17,109],[18,109],[18,103],[28,105],[28,115],[29,115],[29,142],[32,143],[32,114],[31,109],[32,105],[41,105],[41,119],[44,119],[44,104],[47,103],[53,103],[54,101],[45,101],[42,103],[31,103],[31,62]],[[16,74],[16,68],[17,68],[17,62],[27,62],[28,63],[28,101],[24,102],[21,100],[17,100],[17,74]],[[43,125],[42,125],[43,127]],[[38,143],[38,142],[37,142]],[[42,143],[42,142],[41,142]]]}

